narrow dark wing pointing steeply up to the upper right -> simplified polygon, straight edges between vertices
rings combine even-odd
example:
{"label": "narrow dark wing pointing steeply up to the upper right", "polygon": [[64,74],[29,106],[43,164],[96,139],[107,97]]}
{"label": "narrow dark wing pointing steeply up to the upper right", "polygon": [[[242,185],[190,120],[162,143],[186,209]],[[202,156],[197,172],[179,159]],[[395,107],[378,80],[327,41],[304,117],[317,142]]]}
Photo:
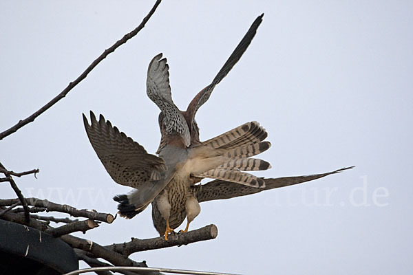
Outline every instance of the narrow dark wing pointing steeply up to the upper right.
{"label": "narrow dark wing pointing steeply up to the upper right", "polygon": [[253,25],[249,28],[248,32],[246,32],[244,38],[241,40],[240,44],[237,45],[231,56],[229,56],[228,60],[222,66],[220,69],[220,72],[215,76],[213,79],[212,83],[202,89],[195,98],[189,103],[187,112],[189,113],[189,118],[190,118],[190,125],[193,122],[193,118],[195,117],[196,111],[204,104],[207,102],[209,99],[209,96],[211,96],[211,93],[213,89],[215,88],[215,85],[221,82],[221,80],[231,71],[231,69],[234,67],[234,65],[240,60],[242,54],[246,51],[246,48],[248,45],[250,45],[251,41],[253,40],[255,33],[257,32],[257,28],[260,26],[262,22],[262,17],[264,17],[264,14],[261,14],[255,21],[253,22]]}

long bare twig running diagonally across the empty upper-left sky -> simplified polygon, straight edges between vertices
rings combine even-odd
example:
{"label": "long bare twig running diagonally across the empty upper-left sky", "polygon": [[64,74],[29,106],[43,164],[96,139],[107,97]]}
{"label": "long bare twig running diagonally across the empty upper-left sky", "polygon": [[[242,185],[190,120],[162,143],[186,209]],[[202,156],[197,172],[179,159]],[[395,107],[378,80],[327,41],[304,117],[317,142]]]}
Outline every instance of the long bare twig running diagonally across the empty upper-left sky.
{"label": "long bare twig running diagonally across the empty upper-left sky", "polygon": [[129,32],[129,34],[125,34],[125,36],[123,36],[122,39],[120,39],[119,41],[114,43],[114,45],[112,45],[112,47],[109,47],[107,50],[105,50],[105,52],[100,54],[100,56],[98,58],[96,58],[96,60],[93,61],[92,64],[89,65],[89,67],[87,67],[87,69],[85,69],[85,72],[83,72],[80,76],[78,76],[78,78],[76,78],[76,80],[69,83],[69,85],[67,85],[67,87],[65,89],[63,89],[63,91],[61,91],[61,93],[59,95],[57,95],[55,98],[50,100],[50,102],[47,102],[47,104],[45,104],[45,106],[41,107],[41,109],[34,112],[28,118],[25,118],[24,120],[19,120],[19,122],[17,122],[17,124],[12,126],[10,129],[7,129],[6,131],[3,131],[2,133],[0,133],[0,140],[3,140],[4,137],[7,137],[8,135],[11,135],[12,133],[16,132],[21,127],[25,126],[25,124],[33,122],[39,115],[41,115],[47,109],[52,107],[56,102],[58,102],[59,100],[64,98],[67,95],[67,93],[69,93],[69,91],[71,91],[76,85],[78,85],[78,83],[80,83],[83,79],[85,79],[87,74],[89,74],[89,72],[91,72],[92,69],[94,69],[94,67],[96,67],[100,63],[100,61],[103,61],[103,59],[105,59],[106,56],[108,56],[109,54],[114,52],[120,45],[125,44],[129,39],[136,36],[136,34],[138,34],[138,32],[140,30],[142,30],[142,28],[145,27],[145,24],[151,18],[153,12],[155,12],[156,8],[158,8],[158,5],[160,4],[160,1],[161,0],[156,1],[155,5],[153,5],[153,8],[151,9],[151,11],[147,14],[147,16],[142,20],[142,23],[140,23],[140,25],[138,25],[138,27],[135,30]]}

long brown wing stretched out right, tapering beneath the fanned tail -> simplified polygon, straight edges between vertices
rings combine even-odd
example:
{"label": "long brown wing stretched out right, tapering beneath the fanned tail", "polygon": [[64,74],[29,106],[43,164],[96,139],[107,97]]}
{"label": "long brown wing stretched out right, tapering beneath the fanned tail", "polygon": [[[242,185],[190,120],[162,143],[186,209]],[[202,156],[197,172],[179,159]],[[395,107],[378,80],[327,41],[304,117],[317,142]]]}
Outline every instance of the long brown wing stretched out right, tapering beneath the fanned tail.
{"label": "long brown wing stretched out right, tapering beneath the fanned tail", "polygon": [[195,197],[199,202],[202,201],[213,201],[215,199],[231,199],[233,197],[240,197],[255,194],[257,192],[262,192],[264,190],[270,190],[274,188],[290,186],[294,184],[301,184],[306,181],[312,181],[314,179],[319,179],[321,177],[326,177],[328,175],[340,173],[343,170],[352,169],[354,166],[341,168],[332,172],[306,175],[298,177],[278,177],[276,179],[264,179],[264,188],[254,188],[241,184],[235,184],[230,181],[214,180],[210,181],[204,185],[195,185]]}

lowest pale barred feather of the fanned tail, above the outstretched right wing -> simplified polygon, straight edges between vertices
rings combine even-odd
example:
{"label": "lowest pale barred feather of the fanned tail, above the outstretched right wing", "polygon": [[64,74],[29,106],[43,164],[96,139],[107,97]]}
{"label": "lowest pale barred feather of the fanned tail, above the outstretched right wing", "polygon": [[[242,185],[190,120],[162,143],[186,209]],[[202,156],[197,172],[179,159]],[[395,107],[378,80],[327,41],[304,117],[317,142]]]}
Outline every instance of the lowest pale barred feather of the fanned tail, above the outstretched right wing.
{"label": "lowest pale barred feather of the fanned tail, above the outstretched right wing", "polygon": [[242,184],[245,186],[251,186],[255,188],[264,188],[265,181],[260,177],[251,175],[248,173],[241,172],[239,170],[230,170],[224,168],[211,169],[200,175],[195,175],[196,177],[209,177],[211,179],[222,179],[225,181],[235,182],[237,184]]}

